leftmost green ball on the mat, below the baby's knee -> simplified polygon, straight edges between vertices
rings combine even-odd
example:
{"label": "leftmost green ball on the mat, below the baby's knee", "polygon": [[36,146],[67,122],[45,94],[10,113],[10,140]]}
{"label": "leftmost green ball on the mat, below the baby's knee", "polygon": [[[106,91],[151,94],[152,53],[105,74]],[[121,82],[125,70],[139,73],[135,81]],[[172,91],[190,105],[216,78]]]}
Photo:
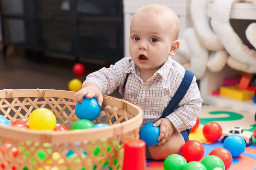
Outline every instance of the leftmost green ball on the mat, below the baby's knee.
{"label": "leftmost green ball on the mat, below the baby's knee", "polygon": [[168,156],[163,162],[163,169],[164,170],[183,170],[187,161],[183,156],[178,154],[172,154]]}

